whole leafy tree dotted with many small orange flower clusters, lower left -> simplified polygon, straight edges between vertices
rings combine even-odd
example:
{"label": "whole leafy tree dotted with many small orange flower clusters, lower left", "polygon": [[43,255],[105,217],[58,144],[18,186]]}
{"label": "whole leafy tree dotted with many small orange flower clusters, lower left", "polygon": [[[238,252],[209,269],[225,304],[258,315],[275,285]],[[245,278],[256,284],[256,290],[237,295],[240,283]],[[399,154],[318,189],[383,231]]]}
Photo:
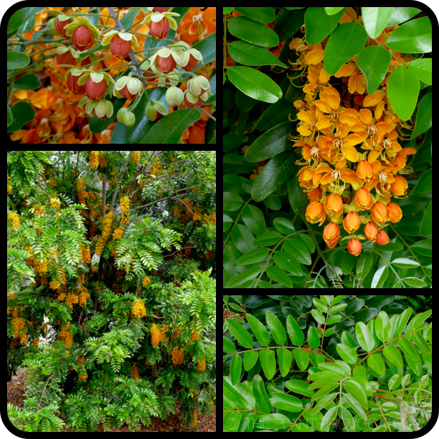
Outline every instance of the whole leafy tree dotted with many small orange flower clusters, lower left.
{"label": "whole leafy tree dotted with many small orange flower clusters, lower left", "polygon": [[215,223],[212,154],[8,152],[14,425],[137,431],[178,401],[197,426],[215,404]]}

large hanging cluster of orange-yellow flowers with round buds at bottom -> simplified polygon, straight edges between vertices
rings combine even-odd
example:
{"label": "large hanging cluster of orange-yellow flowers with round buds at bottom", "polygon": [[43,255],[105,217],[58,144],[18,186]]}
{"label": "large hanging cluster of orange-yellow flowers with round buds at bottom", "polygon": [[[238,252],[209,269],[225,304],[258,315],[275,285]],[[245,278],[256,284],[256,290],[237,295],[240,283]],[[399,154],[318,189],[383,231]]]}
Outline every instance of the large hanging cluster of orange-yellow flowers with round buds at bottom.
{"label": "large hanging cluster of orange-yellow flowers with round buds at bottom", "polygon": [[[353,8],[347,10],[356,17]],[[341,18],[343,23],[353,21],[348,12]],[[385,47],[397,27],[385,28],[369,44]],[[337,245],[343,227],[348,233],[343,238],[348,239],[348,251],[358,256],[361,240],[387,244],[384,227],[401,220],[401,207],[391,199],[406,197],[407,181],[397,174],[411,173],[406,156],[416,149],[402,148],[398,142],[404,137],[401,127],[409,127],[392,111],[387,78],[380,89],[365,96],[366,79],[355,56],[334,75],[347,84],[346,93],[341,95],[331,86],[323,63],[327,40],[317,45],[307,45],[304,38],[290,42],[299,56],[290,64],[293,69],[305,69],[300,74],[307,76],[304,101],[294,103],[300,135],[290,139],[294,147],[302,148],[303,160],[296,163],[302,165],[298,178],[309,198],[307,221],[321,226],[328,219],[323,237],[330,249]],[[410,60],[392,52],[389,74]],[[365,224],[364,234],[355,234],[361,224]]]}

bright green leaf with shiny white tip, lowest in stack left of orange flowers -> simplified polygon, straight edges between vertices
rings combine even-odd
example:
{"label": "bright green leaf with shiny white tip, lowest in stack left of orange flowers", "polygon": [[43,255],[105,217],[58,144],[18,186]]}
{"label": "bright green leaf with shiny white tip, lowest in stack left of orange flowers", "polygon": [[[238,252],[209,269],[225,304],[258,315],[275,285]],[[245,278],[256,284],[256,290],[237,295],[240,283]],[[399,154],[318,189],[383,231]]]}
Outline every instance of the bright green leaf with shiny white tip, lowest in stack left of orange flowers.
{"label": "bright green leaf with shiny white tip, lowest in stack left of orange flowers", "polygon": [[228,67],[227,76],[236,89],[253,99],[275,103],[282,98],[282,90],[278,84],[266,74],[251,67]]}

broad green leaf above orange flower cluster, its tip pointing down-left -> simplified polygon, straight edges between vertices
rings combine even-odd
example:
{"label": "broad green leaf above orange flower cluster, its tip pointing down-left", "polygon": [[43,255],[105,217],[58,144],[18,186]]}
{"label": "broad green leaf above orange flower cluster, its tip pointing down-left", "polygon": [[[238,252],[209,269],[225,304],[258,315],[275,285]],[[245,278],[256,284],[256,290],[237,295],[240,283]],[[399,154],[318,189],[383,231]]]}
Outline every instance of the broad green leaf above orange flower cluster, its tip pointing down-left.
{"label": "broad green leaf above orange flower cluster, its tip pointing down-left", "polygon": [[365,28],[358,23],[343,23],[331,33],[325,48],[324,66],[330,76],[363,50],[367,41]]}

